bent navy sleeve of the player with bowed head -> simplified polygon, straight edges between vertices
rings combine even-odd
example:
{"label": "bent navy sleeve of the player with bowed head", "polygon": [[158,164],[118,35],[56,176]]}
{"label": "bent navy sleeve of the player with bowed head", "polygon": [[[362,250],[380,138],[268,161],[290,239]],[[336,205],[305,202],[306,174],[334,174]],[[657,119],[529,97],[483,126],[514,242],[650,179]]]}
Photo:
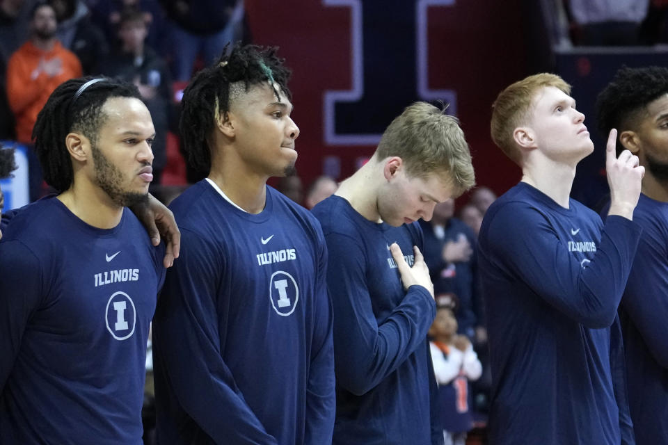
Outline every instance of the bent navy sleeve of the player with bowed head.
{"label": "bent navy sleeve of the player with bowed head", "polygon": [[411,286],[379,325],[366,283],[365,257],[358,242],[328,234],[327,285],[336,320],[334,353],[337,384],[361,396],[401,366],[424,343],[436,314],[427,289]]}

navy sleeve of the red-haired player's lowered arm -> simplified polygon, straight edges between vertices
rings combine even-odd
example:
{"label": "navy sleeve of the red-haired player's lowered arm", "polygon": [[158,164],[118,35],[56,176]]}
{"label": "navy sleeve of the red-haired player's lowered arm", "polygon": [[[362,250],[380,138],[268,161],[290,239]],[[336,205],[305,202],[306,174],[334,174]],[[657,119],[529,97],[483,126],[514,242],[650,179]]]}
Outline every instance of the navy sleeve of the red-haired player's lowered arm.
{"label": "navy sleeve of the red-haired player's lowered arm", "polygon": [[624,359],[624,342],[621,335],[619,317],[614,319],[610,327],[610,373],[614,400],[619,410],[619,435],[621,445],[635,445],[633,421],[628,405],[628,383],[626,379],[626,362]]}

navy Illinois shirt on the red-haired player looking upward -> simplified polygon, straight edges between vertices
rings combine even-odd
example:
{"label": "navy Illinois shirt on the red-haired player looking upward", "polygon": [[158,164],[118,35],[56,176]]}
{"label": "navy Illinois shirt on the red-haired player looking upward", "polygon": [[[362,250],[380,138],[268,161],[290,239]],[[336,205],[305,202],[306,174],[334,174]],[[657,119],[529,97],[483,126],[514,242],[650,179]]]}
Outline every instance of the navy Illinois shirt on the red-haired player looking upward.
{"label": "navy Illinois shirt on the red-haired player looking upward", "polygon": [[479,234],[494,444],[633,444],[617,307],[642,229],[520,183]]}

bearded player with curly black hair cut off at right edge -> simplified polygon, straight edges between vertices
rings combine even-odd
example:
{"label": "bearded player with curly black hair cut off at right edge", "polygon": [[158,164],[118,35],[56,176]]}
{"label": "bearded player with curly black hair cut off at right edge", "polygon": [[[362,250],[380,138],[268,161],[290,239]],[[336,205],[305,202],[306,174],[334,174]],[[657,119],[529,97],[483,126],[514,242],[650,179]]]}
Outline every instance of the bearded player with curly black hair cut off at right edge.
{"label": "bearded player with curly black hair cut off at right edge", "polygon": [[624,67],[598,96],[598,126],[619,129],[645,168],[633,220],[643,228],[619,318],[637,445],[668,444],[668,69]]}

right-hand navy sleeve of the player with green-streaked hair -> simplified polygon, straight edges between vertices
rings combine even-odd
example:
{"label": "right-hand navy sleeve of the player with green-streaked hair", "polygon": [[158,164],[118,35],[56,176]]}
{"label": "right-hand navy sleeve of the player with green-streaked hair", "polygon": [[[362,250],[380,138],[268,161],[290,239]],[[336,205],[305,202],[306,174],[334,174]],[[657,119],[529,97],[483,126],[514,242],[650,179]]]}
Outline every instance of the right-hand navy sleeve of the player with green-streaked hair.
{"label": "right-hand navy sleeve of the player with green-streaked hair", "polygon": [[334,379],[334,344],[332,339],[332,306],[327,293],[327,246],[322,232],[319,232],[319,261],[316,277],[315,332],[311,363],[306,388],[306,431],[304,443],[307,445],[329,444],[332,442],[334,418],[336,414],[336,394]]}

